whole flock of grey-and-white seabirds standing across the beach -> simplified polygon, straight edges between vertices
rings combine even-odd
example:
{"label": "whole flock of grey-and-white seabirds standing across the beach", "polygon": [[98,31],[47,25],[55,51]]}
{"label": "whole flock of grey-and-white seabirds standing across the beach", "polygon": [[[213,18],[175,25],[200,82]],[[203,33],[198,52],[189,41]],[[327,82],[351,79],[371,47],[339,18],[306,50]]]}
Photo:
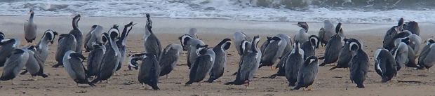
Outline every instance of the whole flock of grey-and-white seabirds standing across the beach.
{"label": "whole flock of grey-and-white seabirds standing across the beach", "polygon": [[[30,18],[25,22],[25,39],[33,43],[36,39],[36,24],[33,20],[34,12],[30,11]],[[285,76],[289,86],[295,86],[293,90],[308,88],[314,83],[319,66],[337,62],[336,68],[349,68],[350,80],[356,83],[358,88],[364,88],[370,62],[368,55],[363,50],[363,43],[358,39],[347,38],[338,23],[335,27],[332,22],[325,20],[324,27],[320,29],[319,35],[309,35],[306,22],[298,22],[301,27],[293,39],[286,34],[277,34],[267,37],[260,48],[260,36],[253,36],[251,39],[243,32],[234,33],[234,39],[223,39],[214,47],[210,47],[201,39],[198,39],[196,29],[191,29],[188,34],[179,37],[181,44],[169,44],[161,48],[158,37],[152,32],[152,20],[149,14],[146,15],[147,24],[144,35],[145,53],[129,56],[128,69],[139,69],[138,81],[146,84],[154,90],[159,90],[158,83],[160,76],[167,76],[177,64],[180,53],[187,51],[187,65],[190,69],[189,81],[186,85],[199,83],[206,76],[205,82],[213,83],[224,73],[227,64],[225,50],[234,43],[241,59],[239,69],[234,73],[234,81],[225,85],[246,85],[253,81],[255,73],[260,67],[276,64],[277,72],[268,76]],[[73,29],[69,34],[59,34],[52,29],[44,32],[41,41],[35,46],[20,47],[19,39],[5,39],[0,34],[0,67],[4,67],[0,81],[13,80],[21,70],[20,74],[29,72],[33,78],[48,75],[44,74],[44,62],[48,57],[49,48],[58,38],[58,50],[55,53],[55,60],[58,62],[53,67],[65,67],[67,74],[77,83],[95,86],[98,82],[107,80],[116,74],[123,65],[126,57],[126,40],[133,22],[124,26],[120,33],[118,25],[114,25],[108,32],[103,32],[100,25],[93,25],[86,36],[83,36],[78,27],[81,16],[76,15],[72,19]],[[390,81],[403,67],[415,67],[416,69],[428,69],[435,64],[435,41],[428,39],[424,48],[422,39],[419,36],[420,30],[417,22],[404,22],[399,20],[398,25],[391,27],[384,36],[383,46],[375,51],[375,71],[382,78],[382,82]],[[84,38],[84,41],[83,41]],[[233,40],[233,41],[232,41]],[[319,45],[326,46],[323,57],[316,57],[315,50]],[[83,56],[84,52],[89,53],[88,57]],[[417,62],[415,61],[416,58]],[[83,61],[87,60],[87,66]],[[319,60],[324,60],[319,63]],[[138,63],[141,62],[141,64]],[[92,81],[91,81],[92,80]]]}

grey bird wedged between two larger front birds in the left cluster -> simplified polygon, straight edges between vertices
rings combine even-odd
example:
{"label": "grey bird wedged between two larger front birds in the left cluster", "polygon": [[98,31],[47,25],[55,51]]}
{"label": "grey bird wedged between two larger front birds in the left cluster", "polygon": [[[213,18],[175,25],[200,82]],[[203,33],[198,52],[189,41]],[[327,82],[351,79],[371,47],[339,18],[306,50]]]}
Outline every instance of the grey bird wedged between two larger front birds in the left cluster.
{"label": "grey bird wedged between two larger front birds in the left cluster", "polygon": [[[102,37],[107,38],[107,37]],[[100,71],[100,66],[102,62],[102,57],[106,53],[106,46],[100,42],[93,42],[93,50],[88,54],[87,60],[87,68],[88,72],[86,73],[89,77],[97,76]]]}

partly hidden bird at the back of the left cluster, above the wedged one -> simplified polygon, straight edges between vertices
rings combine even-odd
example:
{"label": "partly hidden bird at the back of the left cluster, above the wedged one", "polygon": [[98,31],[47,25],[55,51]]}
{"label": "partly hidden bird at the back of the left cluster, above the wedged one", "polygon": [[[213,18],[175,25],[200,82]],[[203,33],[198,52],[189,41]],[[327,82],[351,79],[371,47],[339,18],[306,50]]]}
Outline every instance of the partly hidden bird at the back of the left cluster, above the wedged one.
{"label": "partly hidden bird at the back of the left cluster, above the wedged one", "polygon": [[93,50],[93,42],[102,43],[102,26],[93,25],[91,31],[86,34],[85,37],[85,52],[91,52]]}

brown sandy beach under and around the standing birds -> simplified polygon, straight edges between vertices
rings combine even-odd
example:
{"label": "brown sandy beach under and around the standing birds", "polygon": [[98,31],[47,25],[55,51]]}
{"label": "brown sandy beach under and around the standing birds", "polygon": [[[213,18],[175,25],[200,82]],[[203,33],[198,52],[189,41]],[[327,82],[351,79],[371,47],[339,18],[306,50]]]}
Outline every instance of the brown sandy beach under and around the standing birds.
{"label": "brown sandy beach under and around the standing birds", "polygon": [[[22,22],[27,17],[22,16],[1,16],[0,31],[6,34],[7,38],[19,37],[24,43]],[[38,41],[41,33],[46,29],[54,29],[60,33],[69,32],[71,27],[72,16],[63,17],[38,17]],[[185,34],[190,27],[196,27],[199,30],[199,37],[209,45],[215,45],[222,39],[232,39],[232,34],[237,31],[246,32],[249,36],[260,34],[262,41],[265,36],[274,36],[275,34],[284,33],[293,37],[293,34],[299,30],[299,27],[292,26],[296,22],[253,22],[253,21],[235,21],[235,20],[190,20],[190,19],[166,19],[153,18],[153,30],[159,37],[162,47],[169,43],[180,43],[178,36]],[[145,29],[145,18],[103,18],[103,17],[82,17],[79,22],[81,31],[86,34],[91,25],[102,25],[107,28],[113,24],[119,24],[120,29],[130,21],[138,23],[133,28],[133,34],[128,37],[128,54],[141,53],[143,48],[142,34]],[[373,51],[382,46],[384,33],[394,25],[368,25],[368,24],[343,24],[345,34],[349,38],[361,39],[366,53],[370,56],[370,63],[373,64]],[[309,34],[317,34],[323,26],[321,23],[309,22]],[[420,24],[422,39],[428,39],[434,36],[432,32],[434,24]],[[261,43],[262,43],[261,41]],[[312,91],[290,90],[287,86],[286,78],[260,78],[276,73],[267,67],[260,69],[255,75],[251,87],[255,89],[244,89],[243,85],[224,85],[227,81],[234,80],[235,76],[231,74],[237,69],[239,56],[234,46],[227,50],[228,59],[225,74],[217,79],[216,83],[197,83],[191,86],[184,86],[188,81],[186,55],[183,53],[175,67],[175,71],[169,74],[169,78],[161,77],[159,87],[161,90],[148,90],[142,88],[137,81],[138,71],[128,71],[126,60],[121,75],[112,76],[109,83],[98,83],[96,87],[88,85],[79,85],[77,87],[74,81],[67,75],[65,69],[52,68],[56,63],[54,59],[57,43],[51,46],[51,54],[46,62],[45,71],[49,74],[48,78],[39,78],[38,81],[25,81],[30,78],[29,74],[19,75],[15,78],[19,85],[11,85],[11,81],[0,82],[1,95],[435,95],[435,74],[426,70],[414,70],[411,68],[399,71],[399,74],[388,83],[380,83],[378,76],[370,66],[366,88],[356,88],[349,80],[349,71],[347,69],[335,69],[329,71],[331,65],[320,67],[319,74],[312,88]],[[316,50],[317,56],[322,56],[324,47]],[[85,53],[87,55],[87,53]],[[126,57],[127,59],[128,57]],[[323,61],[320,61],[323,62]],[[2,71],[2,68],[0,68]],[[400,83],[398,81],[421,81],[422,83]]]}

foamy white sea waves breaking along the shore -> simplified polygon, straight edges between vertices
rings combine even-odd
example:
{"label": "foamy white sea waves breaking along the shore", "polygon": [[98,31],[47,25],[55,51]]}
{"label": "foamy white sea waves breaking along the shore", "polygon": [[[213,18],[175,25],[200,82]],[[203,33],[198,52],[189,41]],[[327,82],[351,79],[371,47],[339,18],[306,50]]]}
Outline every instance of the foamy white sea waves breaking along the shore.
{"label": "foamy white sea waves breaking along the shore", "polygon": [[0,0],[0,15],[213,18],[279,22],[435,23],[434,0]]}

